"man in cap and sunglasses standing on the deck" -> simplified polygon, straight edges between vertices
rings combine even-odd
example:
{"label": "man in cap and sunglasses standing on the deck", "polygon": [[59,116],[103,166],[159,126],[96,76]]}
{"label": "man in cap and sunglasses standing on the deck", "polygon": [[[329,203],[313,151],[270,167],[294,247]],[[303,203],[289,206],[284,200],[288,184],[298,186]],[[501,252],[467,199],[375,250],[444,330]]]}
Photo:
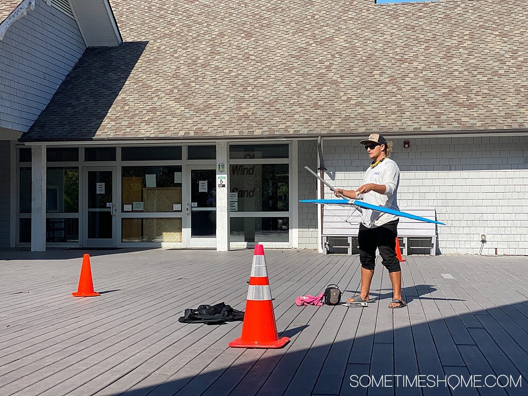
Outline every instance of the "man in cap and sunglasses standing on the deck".
{"label": "man in cap and sunglasses standing on the deck", "polygon": [[[389,158],[392,142],[387,143],[380,134],[371,134],[368,139],[361,140],[369,154],[372,163],[367,168],[363,184],[357,190],[343,190],[336,188],[336,196],[398,209],[396,197],[400,184],[400,169]],[[370,298],[370,284],[374,275],[376,248],[380,251],[382,264],[389,270],[392,282],[392,302],[389,308],[401,308],[406,303],[401,298],[401,269],[400,261],[396,257],[396,237],[398,235],[398,216],[381,213],[371,209],[361,209],[361,224],[357,239],[360,246],[361,262],[361,293],[349,298],[350,302],[373,302]]]}

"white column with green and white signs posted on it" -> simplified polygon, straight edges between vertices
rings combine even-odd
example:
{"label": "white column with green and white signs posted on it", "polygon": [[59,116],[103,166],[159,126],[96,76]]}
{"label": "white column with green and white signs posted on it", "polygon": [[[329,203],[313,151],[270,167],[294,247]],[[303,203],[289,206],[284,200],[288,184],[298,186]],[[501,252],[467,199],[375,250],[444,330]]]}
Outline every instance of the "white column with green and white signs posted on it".
{"label": "white column with green and white signs posted on it", "polygon": [[[222,182],[222,183],[221,183]],[[219,187],[219,185],[225,185]],[[229,144],[216,142],[216,251],[227,252],[229,224]]]}

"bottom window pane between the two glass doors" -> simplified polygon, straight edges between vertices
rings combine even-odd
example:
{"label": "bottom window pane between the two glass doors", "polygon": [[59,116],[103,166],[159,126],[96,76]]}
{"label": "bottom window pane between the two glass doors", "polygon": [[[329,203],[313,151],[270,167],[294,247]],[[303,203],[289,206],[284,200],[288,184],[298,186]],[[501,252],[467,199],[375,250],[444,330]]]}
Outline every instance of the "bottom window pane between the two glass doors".
{"label": "bottom window pane between the two glass doors", "polygon": [[122,242],[181,242],[181,218],[122,219]]}

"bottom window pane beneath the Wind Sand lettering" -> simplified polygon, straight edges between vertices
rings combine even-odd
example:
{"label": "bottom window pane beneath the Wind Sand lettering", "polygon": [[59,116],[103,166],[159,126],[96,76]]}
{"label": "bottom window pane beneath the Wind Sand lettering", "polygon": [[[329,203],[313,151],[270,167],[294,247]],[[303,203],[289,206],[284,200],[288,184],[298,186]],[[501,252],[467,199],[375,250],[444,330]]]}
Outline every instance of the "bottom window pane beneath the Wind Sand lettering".
{"label": "bottom window pane beneath the Wind Sand lettering", "polygon": [[287,217],[231,218],[231,242],[288,242]]}

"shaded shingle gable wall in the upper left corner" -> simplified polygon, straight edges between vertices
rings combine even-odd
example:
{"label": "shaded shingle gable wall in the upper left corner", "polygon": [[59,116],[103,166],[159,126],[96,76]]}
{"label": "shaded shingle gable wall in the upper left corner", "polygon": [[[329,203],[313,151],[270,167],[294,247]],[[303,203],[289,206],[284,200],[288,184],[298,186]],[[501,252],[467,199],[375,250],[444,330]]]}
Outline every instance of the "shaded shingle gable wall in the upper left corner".
{"label": "shaded shingle gable wall in the upper left corner", "polygon": [[0,127],[27,131],[85,48],[72,18],[36,0],[0,41]]}

